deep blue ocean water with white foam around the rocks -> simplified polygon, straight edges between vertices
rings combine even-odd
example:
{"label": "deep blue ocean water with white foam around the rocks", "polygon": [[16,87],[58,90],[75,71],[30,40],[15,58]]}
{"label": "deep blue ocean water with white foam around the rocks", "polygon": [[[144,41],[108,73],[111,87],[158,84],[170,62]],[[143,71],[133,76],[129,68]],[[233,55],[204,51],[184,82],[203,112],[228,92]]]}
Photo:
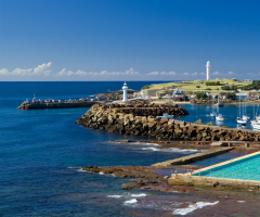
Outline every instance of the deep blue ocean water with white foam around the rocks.
{"label": "deep blue ocean water with white foam around the rocks", "polygon": [[[172,216],[197,215],[199,210],[203,212],[202,215],[207,215],[212,207],[222,205],[222,196],[234,195],[231,192],[204,191],[186,194],[123,191],[121,184],[129,180],[83,173],[81,168],[89,165],[147,166],[190,153],[180,150],[158,151],[148,142],[142,145],[114,143],[116,139],[148,139],[107,133],[75,124],[88,111],[86,107],[16,108],[26,99],[31,100],[34,94],[36,99],[42,100],[80,99],[119,90],[122,84],[0,82],[0,216]],[[140,90],[148,84],[151,82],[129,81],[128,87]],[[193,122],[200,117],[203,122],[208,122],[210,118],[207,116],[210,106],[183,106],[191,113],[190,117],[183,117],[185,120]],[[234,106],[221,110],[232,125],[230,116],[234,114]],[[252,111],[252,106],[248,106],[248,111]],[[227,120],[225,124],[229,124]],[[224,159],[232,157],[234,156],[224,155]],[[209,164],[212,161],[204,163]],[[240,194],[233,197],[237,201],[245,200]],[[252,204],[259,203],[258,196],[247,195],[246,199]],[[223,204],[223,210],[229,210],[230,205],[233,209],[237,207],[237,210],[243,212],[247,205],[232,203],[230,200]],[[183,207],[188,209],[183,210]],[[250,212],[255,210],[251,208]]]}

